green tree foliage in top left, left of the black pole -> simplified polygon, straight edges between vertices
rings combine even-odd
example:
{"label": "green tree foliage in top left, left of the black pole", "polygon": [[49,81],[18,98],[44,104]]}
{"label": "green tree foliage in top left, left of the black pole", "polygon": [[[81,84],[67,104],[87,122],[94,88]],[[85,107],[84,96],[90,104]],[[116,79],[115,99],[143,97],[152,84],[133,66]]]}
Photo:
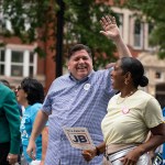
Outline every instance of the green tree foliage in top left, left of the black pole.
{"label": "green tree foliage in top left, left of the black pole", "polygon": [[[23,42],[31,43],[36,40],[36,29],[47,23],[45,19],[52,7],[50,0],[4,0],[2,2],[3,19],[9,20],[12,25],[12,32],[6,31],[8,36],[16,35]],[[51,14],[47,15],[51,21]]]}

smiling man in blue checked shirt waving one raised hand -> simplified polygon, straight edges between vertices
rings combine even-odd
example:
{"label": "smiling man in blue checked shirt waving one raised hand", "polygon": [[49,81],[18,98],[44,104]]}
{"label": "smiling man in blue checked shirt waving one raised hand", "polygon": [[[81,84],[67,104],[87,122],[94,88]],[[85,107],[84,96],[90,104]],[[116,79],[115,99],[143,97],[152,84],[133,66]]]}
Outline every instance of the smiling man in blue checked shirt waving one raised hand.
{"label": "smiling man in blue checked shirt waving one raised hand", "polygon": [[[119,51],[119,56],[131,56],[124,45],[116,19],[101,19],[101,33],[111,38]],[[48,146],[45,165],[85,165],[79,148],[72,147],[63,128],[87,128],[94,144],[103,141],[100,123],[106,116],[109,99],[116,94],[111,88],[111,68],[95,72],[92,69],[91,51],[84,44],[76,44],[68,52],[69,74],[56,78],[38,111],[28,153],[35,155],[35,139],[48,119]],[[90,165],[99,165],[102,157],[91,161]]]}

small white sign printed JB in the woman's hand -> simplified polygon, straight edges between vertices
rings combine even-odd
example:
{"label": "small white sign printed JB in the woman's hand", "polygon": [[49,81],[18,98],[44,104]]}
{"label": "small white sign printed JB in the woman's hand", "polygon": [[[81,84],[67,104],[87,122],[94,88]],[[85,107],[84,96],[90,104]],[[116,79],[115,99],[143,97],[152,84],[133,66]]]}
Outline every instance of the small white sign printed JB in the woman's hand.
{"label": "small white sign printed JB in the woman's hand", "polygon": [[63,128],[63,130],[73,147],[80,150],[91,150],[95,147],[86,128]]}

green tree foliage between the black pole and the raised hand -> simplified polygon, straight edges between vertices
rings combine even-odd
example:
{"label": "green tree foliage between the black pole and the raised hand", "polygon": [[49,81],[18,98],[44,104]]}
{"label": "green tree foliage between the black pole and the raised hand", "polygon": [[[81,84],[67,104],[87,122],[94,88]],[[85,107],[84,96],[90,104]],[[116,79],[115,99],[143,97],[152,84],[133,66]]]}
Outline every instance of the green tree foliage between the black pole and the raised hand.
{"label": "green tree foliage between the black pole and the raised hand", "polygon": [[[116,46],[99,31],[99,20],[105,14],[112,14],[113,11],[105,3],[96,3],[94,0],[64,0],[65,12],[65,40],[66,47],[70,44],[82,43],[88,45],[94,55],[95,68],[105,67],[114,59]],[[118,15],[116,15],[118,16]]]}

